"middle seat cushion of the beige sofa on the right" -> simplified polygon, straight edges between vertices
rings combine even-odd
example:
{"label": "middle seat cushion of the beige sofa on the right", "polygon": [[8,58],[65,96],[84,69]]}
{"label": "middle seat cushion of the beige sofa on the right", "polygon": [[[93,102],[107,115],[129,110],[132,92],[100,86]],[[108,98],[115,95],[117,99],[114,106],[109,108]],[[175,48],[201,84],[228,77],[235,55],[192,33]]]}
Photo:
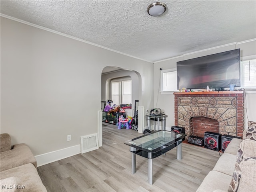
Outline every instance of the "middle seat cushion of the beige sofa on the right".
{"label": "middle seat cushion of the beige sofa on the right", "polygon": [[223,153],[213,170],[232,176],[236,165],[236,157],[236,155],[230,153]]}

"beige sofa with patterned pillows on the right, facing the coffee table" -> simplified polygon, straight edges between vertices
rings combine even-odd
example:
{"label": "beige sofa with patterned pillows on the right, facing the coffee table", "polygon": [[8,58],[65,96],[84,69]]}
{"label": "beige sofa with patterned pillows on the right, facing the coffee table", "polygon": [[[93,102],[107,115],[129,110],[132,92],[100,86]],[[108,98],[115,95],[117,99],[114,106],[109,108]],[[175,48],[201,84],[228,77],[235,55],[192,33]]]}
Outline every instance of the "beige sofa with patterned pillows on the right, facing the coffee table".
{"label": "beige sofa with patterned pillows on the right, facing the coffee table", "polygon": [[248,122],[243,138],[230,141],[197,192],[256,191],[256,122]]}

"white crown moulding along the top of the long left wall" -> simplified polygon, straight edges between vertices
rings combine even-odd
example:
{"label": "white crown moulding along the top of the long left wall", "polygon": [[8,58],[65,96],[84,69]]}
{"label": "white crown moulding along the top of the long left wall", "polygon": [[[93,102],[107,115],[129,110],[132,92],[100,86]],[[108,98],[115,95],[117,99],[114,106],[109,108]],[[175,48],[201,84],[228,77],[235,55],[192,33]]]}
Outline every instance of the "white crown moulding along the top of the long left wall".
{"label": "white crown moulding along the top of the long left wall", "polygon": [[20,23],[22,23],[22,24],[26,24],[26,25],[30,25],[30,26],[32,26],[32,27],[36,27],[36,28],[38,28],[38,29],[43,29],[43,30],[45,30],[45,31],[49,31],[49,32],[52,32],[52,33],[56,33],[56,34],[62,35],[62,36],[64,36],[64,37],[68,37],[68,38],[71,38],[71,39],[75,39],[75,40],[77,40],[77,41],[81,41],[81,42],[84,42],[84,43],[88,43],[88,44],[90,44],[90,45],[94,45],[94,46],[96,46],[96,47],[100,47],[100,48],[102,48],[102,49],[106,49],[106,50],[108,50],[108,51],[113,51],[113,52],[115,52],[115,53],[119,53],[119,54],[122,54],[122,55],[126,55],[126,56],[132,57],[132,58],[134,58],[134,59],[139,59],[139,60],[146,61],[146,62],[149,62],[149,63],[154,63],[153,61],[148,61],[148,60],[145,60],[145,59],[141,59],[141,58],[139,58],[139,57],[135,57],[135,56],[132,56],[132,55],[129,55],[129,54],[126,54],[126,53],[122,53],[122,52],[120,52],[120,51],[116,51],[116,50],[114,50],[114,49],[110,49],[110,48],[108,48],[108,47],[104,47],[104,46],[98,45],[98,44],[96,44],[96,43],[91,43],[91,42],[89,42],[89,41],[85,41],[85,40],[83,40],[83,39],[79,39],[79,38],[77,38],[77,37],[73,37],[73,36],[71,36],[71,35],[66,35],[66,34],[64,34],[64,33],[60,33],[60,32],[58,32],[58,31],[54,31],[54,30],[52,30],[52,29],[49,29],[49,28],[46,28],[46,27],[42,27],[42,26],[40,26],[40,25],[32,24],[32,23],[30,23],[30,22],[26,22],[26,21],[23,21],[23,20],[20,20],[20,19],[17,19],[17,18],[13,18],[13,17],[7,16],[7,15],[5,15],[5,14],[0,14],[0,16],[1,16],[1,17],[4,17],[4,18],[7,18],[7,19],[10,19],[10,20],[13,20],[13,21],[16,21],[16,22],[20,22]]}

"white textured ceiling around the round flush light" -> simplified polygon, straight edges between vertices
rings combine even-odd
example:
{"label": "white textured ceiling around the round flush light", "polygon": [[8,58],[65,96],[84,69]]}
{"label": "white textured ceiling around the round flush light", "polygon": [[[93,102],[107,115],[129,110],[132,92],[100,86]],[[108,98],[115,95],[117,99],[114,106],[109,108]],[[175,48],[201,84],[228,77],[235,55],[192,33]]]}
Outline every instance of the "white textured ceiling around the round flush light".
{"label": "white textured ceiling around the round flush light", "polygon": [[[1,14],[146,61],[256,38],[256,1],[1,0]],[[2,15],[2,16],[4,16]]]}

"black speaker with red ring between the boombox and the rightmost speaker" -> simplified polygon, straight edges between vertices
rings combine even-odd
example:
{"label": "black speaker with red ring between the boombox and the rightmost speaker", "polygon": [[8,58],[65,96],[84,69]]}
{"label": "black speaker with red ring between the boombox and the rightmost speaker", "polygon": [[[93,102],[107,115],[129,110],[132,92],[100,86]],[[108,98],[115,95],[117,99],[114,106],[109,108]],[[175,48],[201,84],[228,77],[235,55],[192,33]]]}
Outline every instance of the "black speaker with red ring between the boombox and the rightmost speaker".
{"label": "black speaker with red ring between the boombox and the rightmost speaker", "polygon": [[214,151],[221,150],[221,134],[206,131],[204,133],[204,147]]}

